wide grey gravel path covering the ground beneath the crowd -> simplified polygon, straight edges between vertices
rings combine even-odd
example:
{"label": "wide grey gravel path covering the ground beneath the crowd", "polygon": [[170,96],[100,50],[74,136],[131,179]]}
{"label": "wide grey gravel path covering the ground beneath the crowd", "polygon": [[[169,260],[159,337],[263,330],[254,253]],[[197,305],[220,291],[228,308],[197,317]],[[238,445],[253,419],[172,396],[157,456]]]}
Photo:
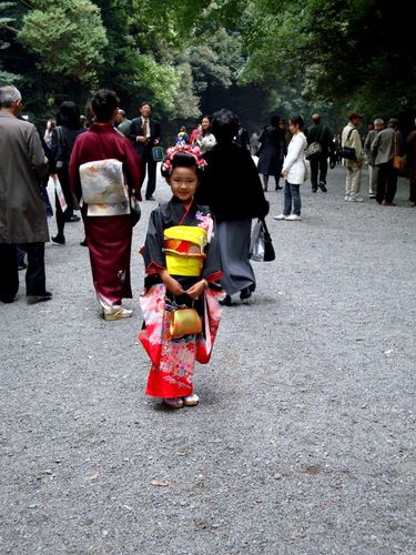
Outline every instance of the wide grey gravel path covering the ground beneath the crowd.
{"label": "wide grey gravel path covering the ground beneath the crowd", "polygon": [[407,181],[397,208],[328,183],[268,218],[276,261],[225,309],[196,408],[143,396],[136,299],[99,317],[82,225],[47,245],[53,301],[0,307],[1,554],[415,553],[416,211]]}

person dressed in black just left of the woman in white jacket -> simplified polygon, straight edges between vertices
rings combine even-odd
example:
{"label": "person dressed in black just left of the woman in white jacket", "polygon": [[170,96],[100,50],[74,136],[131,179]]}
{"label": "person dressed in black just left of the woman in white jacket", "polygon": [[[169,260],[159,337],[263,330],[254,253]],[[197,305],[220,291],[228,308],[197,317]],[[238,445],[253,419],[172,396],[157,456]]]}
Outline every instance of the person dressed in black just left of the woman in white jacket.
{"label": "person dressed in black just left of the woman in white jacket", "polygon": [[280,120],[278,115],[273,115],[271,124],[263,129],[258,138],[257,171],[263,174],[264,191],[267,191],[270,175],[273,175],[275,180],[275,190],[282,189],[278,185],[278,180],[286,153],[286,140],[284,132],[278,127]]}

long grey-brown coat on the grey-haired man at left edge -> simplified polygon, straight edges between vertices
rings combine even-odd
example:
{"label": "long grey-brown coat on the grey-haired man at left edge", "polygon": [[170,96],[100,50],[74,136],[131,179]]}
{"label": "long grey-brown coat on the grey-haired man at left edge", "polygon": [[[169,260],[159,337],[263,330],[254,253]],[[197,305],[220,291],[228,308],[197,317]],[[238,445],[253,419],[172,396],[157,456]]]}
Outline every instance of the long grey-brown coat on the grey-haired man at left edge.
{"label": "long grey-brown coat on the grey-haired man at left edge", "polygon": [[49,241],[39,189],[47,171],[35,127],[0,111],[0,243]]}

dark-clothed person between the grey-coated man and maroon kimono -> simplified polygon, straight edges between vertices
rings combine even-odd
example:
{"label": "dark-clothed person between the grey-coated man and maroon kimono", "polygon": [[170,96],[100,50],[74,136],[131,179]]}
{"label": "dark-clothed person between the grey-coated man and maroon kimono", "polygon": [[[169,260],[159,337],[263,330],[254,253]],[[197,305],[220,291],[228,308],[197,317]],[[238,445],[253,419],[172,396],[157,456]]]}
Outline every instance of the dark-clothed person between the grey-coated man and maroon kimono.
{"label": "dark-clothed person between the grey-coated man and maroon kimono", "polygon": [[57,127],[52,130],[51,141],[51,151],[53,154],[51,174],[58,175],[68,206],[63,212],[58,193],[55,192],[58,233],[55,236],[52,236],[52,241],[58,244],[65,244],[65,235],[63,233],[65,222],[80,221],[80,216],[73,213],[73,195],[69,182],[69,162],[77,137],[84,132],[85,128],[81,124],[80,109],[78,105],[71,101],[62,102],[57,114]]}

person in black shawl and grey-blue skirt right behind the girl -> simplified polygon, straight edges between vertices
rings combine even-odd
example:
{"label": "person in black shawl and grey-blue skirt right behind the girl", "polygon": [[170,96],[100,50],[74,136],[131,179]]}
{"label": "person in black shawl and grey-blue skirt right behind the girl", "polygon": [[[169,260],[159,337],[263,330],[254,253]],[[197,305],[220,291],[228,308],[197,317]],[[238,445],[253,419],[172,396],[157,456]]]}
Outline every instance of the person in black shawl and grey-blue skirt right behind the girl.
{"label": "person in black shawl and grey-blue skirt right behind the girl", "polygon": [[268,202],[248,150],[233,142],[239,119],[230,110],[213,114],[212,132],[215,147],[204,155],[207,167],[201,178],[195,199],[209,205],[216,220],[221,266],[224,275],[221,285],[226,292],[222,301],[231,305],[231,296],[252,296],[255,275],[250,263],[250,240],[253,218],[264,218]]}

